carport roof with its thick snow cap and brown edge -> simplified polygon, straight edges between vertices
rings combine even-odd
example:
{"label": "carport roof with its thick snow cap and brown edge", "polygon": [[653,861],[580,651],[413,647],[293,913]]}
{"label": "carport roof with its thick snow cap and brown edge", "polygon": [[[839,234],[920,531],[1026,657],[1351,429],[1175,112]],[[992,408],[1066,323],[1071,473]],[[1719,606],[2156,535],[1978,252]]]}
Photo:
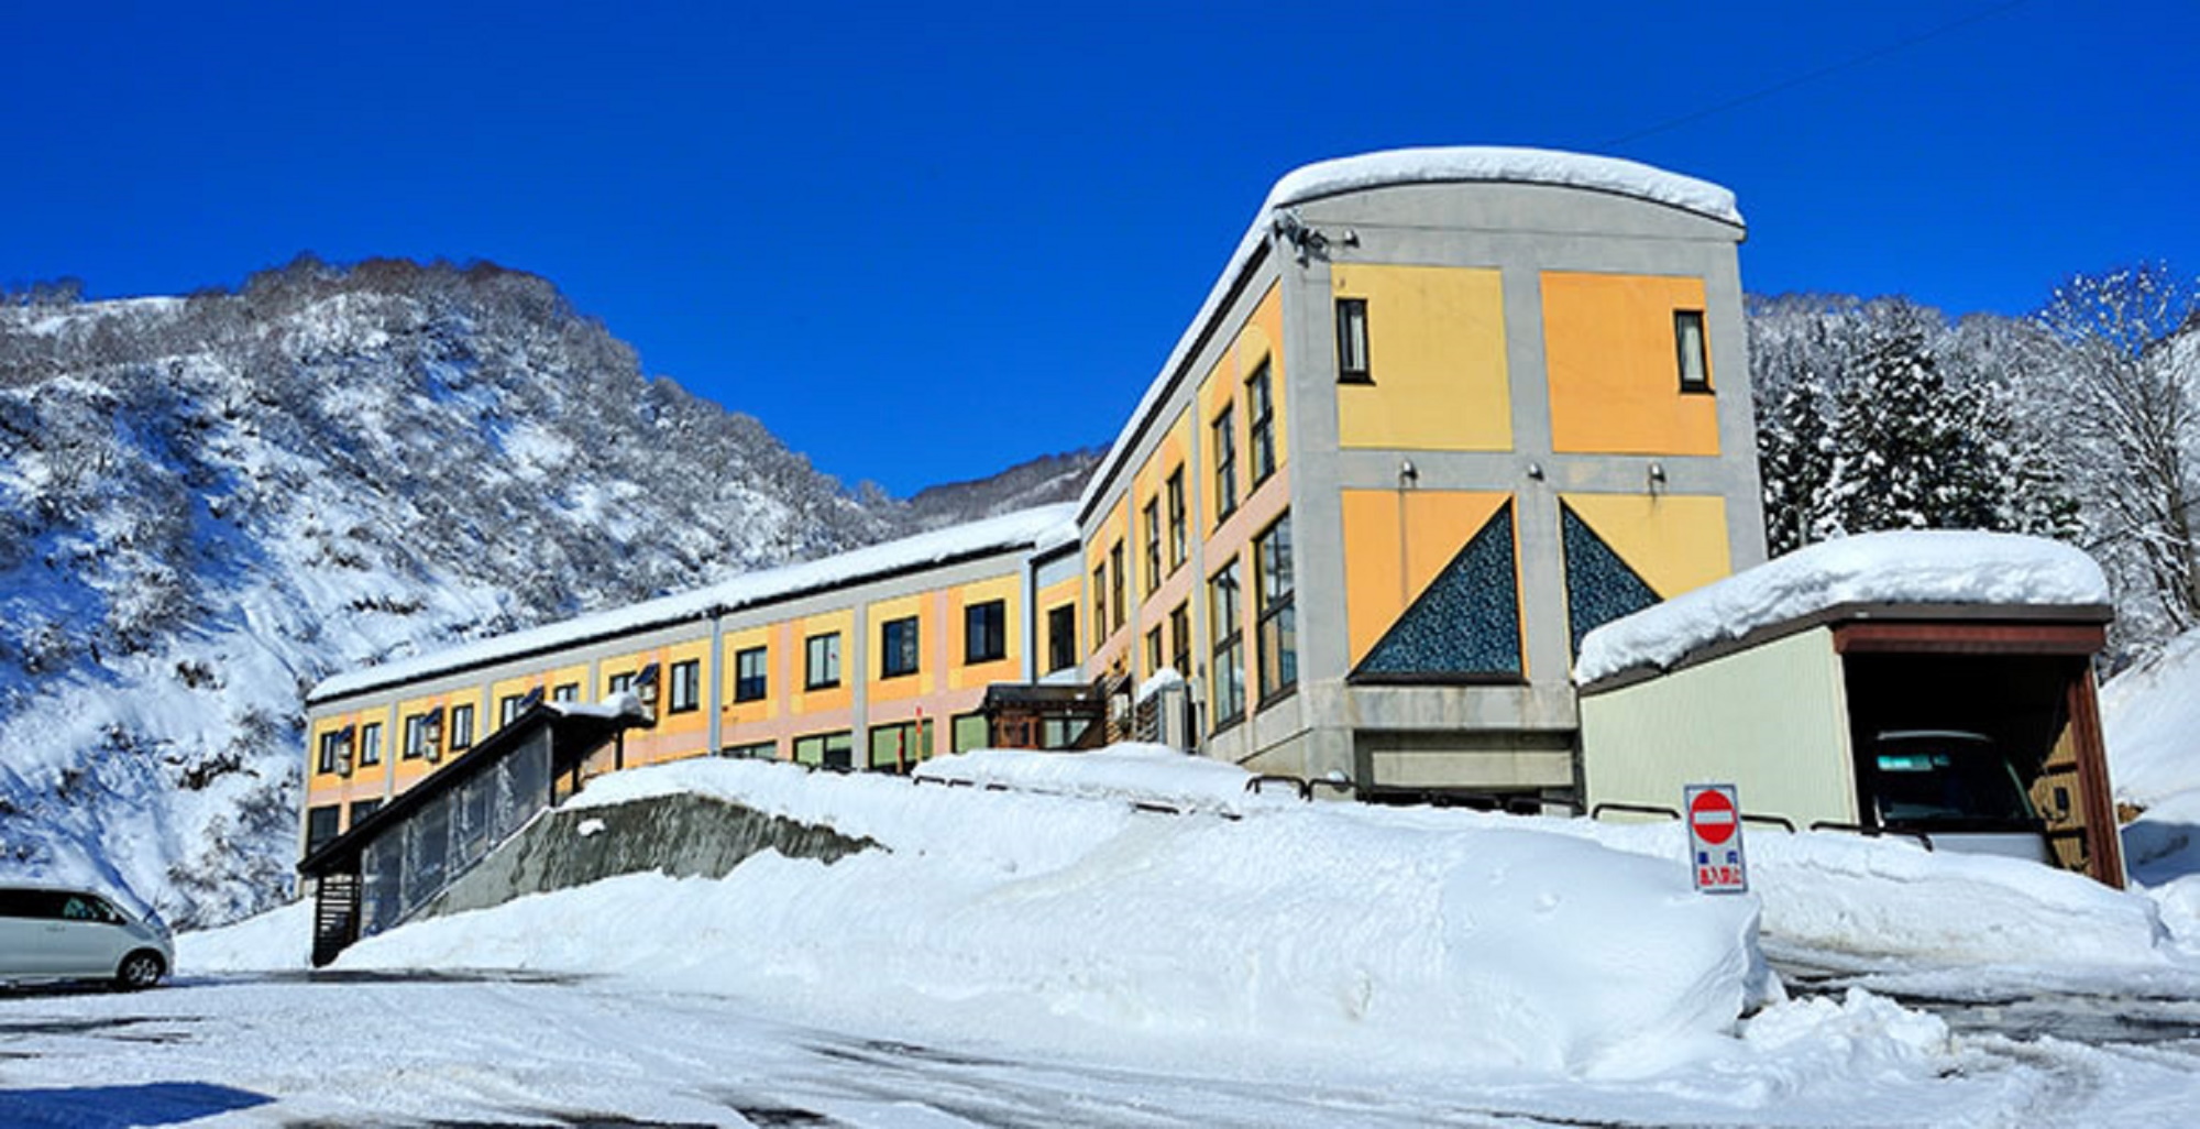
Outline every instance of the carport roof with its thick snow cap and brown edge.
{"label": "carport roof with its thick snow cap and brown edge", "polygon": [[2101,566],[2075,546],[2006,533],[1868,533],[1606,623],[1582,640],[1573,680],[1599,693],[1830,623],[2112,618]]}

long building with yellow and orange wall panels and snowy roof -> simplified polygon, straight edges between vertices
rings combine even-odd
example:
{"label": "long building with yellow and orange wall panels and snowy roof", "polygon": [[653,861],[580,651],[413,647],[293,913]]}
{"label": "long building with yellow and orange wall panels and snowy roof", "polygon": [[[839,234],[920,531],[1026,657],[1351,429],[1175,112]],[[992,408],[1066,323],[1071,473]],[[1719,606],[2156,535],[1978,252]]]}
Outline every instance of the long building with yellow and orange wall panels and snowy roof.
{"label": "long building with yellow and orange wall panels and snowy roof", "polygon": [[1764,555],[1742,233],[1729,191],[1615,158],[1302,167],[1074,506],[323,682],[306,841],[530,698],[651,691],[620,764],[906,768],[986,742],[988,684],[1164,669],[1210,757],[1571,797],[1582,638]]}

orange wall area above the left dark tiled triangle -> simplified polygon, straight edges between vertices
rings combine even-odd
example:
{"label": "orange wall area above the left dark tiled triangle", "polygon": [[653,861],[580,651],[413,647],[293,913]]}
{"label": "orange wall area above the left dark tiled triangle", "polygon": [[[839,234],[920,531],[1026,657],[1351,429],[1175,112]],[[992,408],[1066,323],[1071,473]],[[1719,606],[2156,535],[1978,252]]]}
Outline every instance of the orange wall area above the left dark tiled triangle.
{"label": "orange wall area above the left dark tiled triangle", "polygon": [[1481,491],[1342,491],[1344,636],[1355,667],[1509,500]]}

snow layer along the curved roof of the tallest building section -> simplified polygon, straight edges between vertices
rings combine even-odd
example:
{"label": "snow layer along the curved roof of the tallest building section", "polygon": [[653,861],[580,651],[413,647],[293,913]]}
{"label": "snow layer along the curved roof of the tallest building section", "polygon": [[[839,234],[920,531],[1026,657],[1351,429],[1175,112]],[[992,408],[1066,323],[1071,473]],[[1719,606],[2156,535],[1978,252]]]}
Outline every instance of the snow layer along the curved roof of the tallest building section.
{"label": "snow layer along the curved roof of the tallest building section", "polygon": [[[1613,191],[1619,196],[1635,196],[1637,200],[1694,211],[1696,216],[1729,222],[1734,227],[1745,227],[1742,211],[1734,205],[1731,189],[1709,180],[1696,180],[1694,176],[1681,176],[1676,172],[1641,165],[1637,161],[1621,161],[1617,156],[1489,145],[1445,145],[1384,150],[1302,165],[1287,172],[1283,180],[1276,180],[1276,187],[1267,191],[1267,200],[1261,202],[1261,211],[1254,213],[1252,224],[1239,240],[1239,246],[1223,266],[1221,277],[1217,277],[1214,286],[1208,291],[1208,299],[1199,304],[1199,313],[1192,317],[1190,326],[1184,328],[1184,337],[1177,339],[1177,348],[1168,352],[1168,361],[1162,363],[1162,372],[1151,385],[1146,385],[1146,396],[1137,401],[1137,409],[1131,412],[1131,420],[1135,423],[1144,418],[1146,412],[1151,412],[1153,405],[1166,394],[1170,376],[1190,354],[1192,343],[1199,341],[1201,326],[1214,317],[1223,297],[1230,295],[1230,284],[1236,282],[1239,273],[1245,271],[1245,264],[1252,262],[1254,251],[1267,242],[1274,227],[1274,213],[1278,209],[1344,191],[1364,191],[1390,185],[1456,183],[1553,185]],[[1093,475],[1085,480],[1085,493],[1078,497],[1078,515],[1082,515],[1093,500],[1100,497],[1107,480],[1115,473],[1115,467],[1131,453],[1135,434],[1135,427],[1124,427],[1115,436],[1115,445],[1109,447],[1107,458],[1102,458]]]}

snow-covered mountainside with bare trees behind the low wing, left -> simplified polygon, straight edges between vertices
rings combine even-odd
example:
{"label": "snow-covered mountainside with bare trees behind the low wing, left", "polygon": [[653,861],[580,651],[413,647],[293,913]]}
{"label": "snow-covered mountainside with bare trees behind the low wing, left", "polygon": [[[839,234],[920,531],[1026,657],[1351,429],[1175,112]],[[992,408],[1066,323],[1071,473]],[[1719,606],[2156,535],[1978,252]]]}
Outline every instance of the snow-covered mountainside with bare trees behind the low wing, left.
{"label": "snow-covered mountainside with bare trees behind the low wing, left", "polygon": [[0,867],[178,924],[257,909],[290,885],[323,676],[994,493],[849,493],[486,264],[0,306]]}

